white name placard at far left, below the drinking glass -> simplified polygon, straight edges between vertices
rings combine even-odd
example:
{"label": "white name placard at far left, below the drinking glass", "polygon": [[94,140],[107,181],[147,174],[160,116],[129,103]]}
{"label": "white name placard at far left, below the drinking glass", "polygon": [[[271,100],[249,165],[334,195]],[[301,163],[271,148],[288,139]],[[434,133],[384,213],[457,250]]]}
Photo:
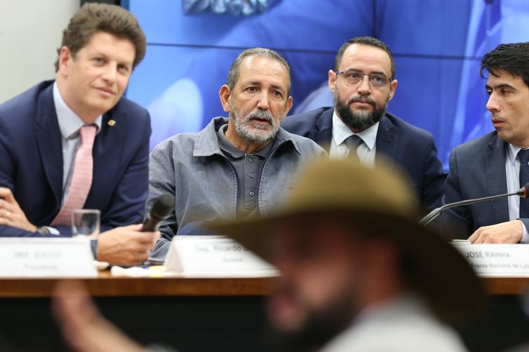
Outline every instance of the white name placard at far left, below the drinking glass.
{"label": "white name placard at far left, below the drinking glass", "polygon": [[0,238],[0,277],[96,277],[90,240]]}

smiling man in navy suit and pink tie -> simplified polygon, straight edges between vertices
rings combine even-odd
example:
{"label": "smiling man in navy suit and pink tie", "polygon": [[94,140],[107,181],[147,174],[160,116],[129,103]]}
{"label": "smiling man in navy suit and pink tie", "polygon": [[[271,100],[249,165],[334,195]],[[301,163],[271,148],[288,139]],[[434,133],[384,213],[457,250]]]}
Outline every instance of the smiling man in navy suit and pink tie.
{"label": "smiling man in navy suit and pink tie", "polygon": [[55,80],[0,105],[0,237],[69,236],[72,209],[99,209],[98,260],[135,265],[158,232],[140,232],[150,116],[122,97],[145,34],[119,6],[87,3],[63,32]]}

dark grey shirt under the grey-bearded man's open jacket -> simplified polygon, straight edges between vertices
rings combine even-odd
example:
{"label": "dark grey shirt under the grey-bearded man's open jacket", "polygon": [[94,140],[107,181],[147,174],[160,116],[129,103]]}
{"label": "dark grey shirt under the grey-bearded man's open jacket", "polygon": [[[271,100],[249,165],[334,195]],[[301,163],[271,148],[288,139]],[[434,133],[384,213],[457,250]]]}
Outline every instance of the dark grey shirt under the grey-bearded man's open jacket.
{"label": "dark grey shirt under the grey-bearded man's open jacket", "polygon": [[259,175],[262,164],[276,145],[276,139],[254,154],[246,154],[228,141],[225,135],[227,127],[228,125],[220,127],[217,132],[217,137],[219,139],[220,150],[232,164],[237,175],[237,180],[239,181],[237,216],[242,218],[255,211],[259,211],[257,209]]}

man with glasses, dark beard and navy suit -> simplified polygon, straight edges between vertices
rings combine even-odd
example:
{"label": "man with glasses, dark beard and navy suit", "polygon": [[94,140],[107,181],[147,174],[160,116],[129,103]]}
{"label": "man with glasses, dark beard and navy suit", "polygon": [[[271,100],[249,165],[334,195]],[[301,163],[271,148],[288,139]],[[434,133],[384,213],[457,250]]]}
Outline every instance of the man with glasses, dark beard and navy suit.
{"label": "man with glasses, dark beard and navy suit", "polygon": [[283,128],[308,137],[329,156],[356,150],[363,164],[386,158],[408,172],[422,206],[441,205],[446,174],[437,157],[434,137],[424,129],[386,112],[397,80],[388,46],[369,36],[352,38],[338,50],[328,71],[334,107],[287,116]]}

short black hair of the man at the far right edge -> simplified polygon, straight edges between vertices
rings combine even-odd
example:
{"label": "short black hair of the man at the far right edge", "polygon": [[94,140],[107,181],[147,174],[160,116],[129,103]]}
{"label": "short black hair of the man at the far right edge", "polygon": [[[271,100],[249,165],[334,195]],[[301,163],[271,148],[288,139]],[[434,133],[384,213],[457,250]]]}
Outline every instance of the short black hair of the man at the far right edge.
{"label": "short black hair of the man at the far right edge", "polygon": [[483,70],[497,77],[498,69],[521,77],[529,87],[529,43],[500,44],[493,51],[486,53],[481,59],[481,77],[486,78]]}

